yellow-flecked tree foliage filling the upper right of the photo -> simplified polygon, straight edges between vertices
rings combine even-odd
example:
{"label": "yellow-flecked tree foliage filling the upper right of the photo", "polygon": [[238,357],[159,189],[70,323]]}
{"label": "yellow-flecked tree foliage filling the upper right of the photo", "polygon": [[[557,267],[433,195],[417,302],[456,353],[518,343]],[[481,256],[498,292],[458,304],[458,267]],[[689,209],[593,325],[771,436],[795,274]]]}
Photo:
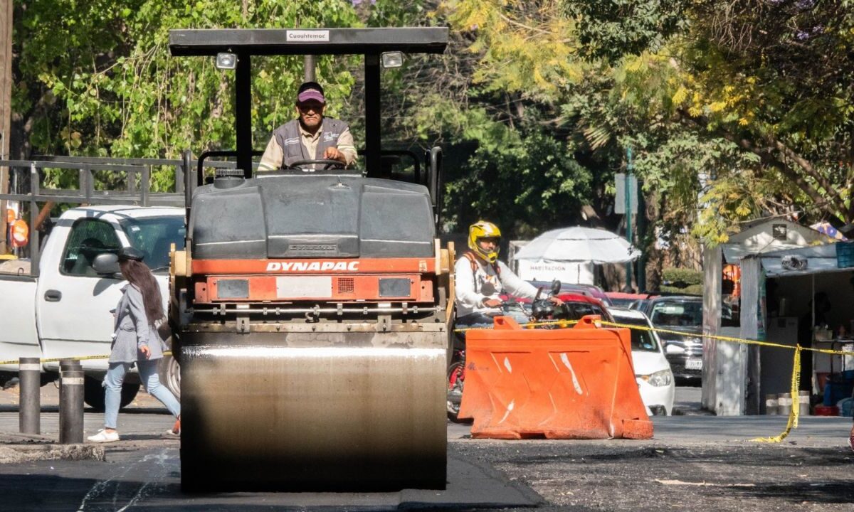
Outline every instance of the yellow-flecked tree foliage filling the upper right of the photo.
{"label": "yellow-flecked tree foliage filling the upper right of the photo", "polygon": [[[544,113],[537,122],[576,142],[579,161],[613,164],[635,148],[665,231],[693,224],[715,243],[763,215],[854,220],[850,1],[445,5],[480,51],[475,81],[514,84]],[[555,44],[571,49],[569,62],[539,58]],[[494,58],[496,45],[512,47],[513,67]],[[513,82],[520,69],[528,80]],[[536,79],[554,75],[551,87]]]}

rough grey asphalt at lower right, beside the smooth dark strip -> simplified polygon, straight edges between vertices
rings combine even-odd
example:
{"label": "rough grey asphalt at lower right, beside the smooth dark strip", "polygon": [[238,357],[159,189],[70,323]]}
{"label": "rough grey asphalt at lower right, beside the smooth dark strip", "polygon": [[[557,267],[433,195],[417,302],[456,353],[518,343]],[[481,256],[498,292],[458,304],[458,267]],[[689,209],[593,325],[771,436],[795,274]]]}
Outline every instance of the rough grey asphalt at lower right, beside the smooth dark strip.
{"label": "rough grey asphalt at lower right, beside the smooth dark strip", "polygon": [[539,441],[459,444],[555,510],[854,509],[854,453],[743,443],[664,445]]}

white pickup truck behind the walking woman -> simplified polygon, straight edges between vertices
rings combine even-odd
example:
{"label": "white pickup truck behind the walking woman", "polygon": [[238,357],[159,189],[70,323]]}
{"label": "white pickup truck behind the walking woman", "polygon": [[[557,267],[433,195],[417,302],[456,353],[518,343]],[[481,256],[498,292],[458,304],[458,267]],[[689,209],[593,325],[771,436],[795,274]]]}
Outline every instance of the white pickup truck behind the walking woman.
{"label": "white pickup truck behind the walking woman", "polygon": [[[170,247],[183,248],[184,235],[182,208],[114,205],[63,212],[39,251],[38,272],[32,273],[37,276],[25,271],[17,263],[20,260],[0,265],[0,361],[108,355],[113,334],[110,310],[126,281],[120,275],[98,275],[93,260],[120,247],[142,250],[166,305]],[[102,409],[107,359],[82,364],[85,401]],[[59,363],[44,363],[43,384],[56,378],[58,369]],[[0,365],[0,371],[17,370],[17,364]],[[178,364],[169,356],[161,362],[161,381],[180,393]],[[137,374],[129,375],[122,405],[130,403],[138,390]]]}

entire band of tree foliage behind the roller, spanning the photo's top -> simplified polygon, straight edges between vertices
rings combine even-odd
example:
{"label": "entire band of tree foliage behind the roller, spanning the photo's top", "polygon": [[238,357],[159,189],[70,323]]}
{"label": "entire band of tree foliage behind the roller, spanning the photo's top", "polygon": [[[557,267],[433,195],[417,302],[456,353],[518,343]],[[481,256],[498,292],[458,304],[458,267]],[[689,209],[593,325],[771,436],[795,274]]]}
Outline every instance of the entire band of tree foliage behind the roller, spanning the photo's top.
{"label": "entire band of tree foliage behind the roller, spanning the photo's top", "polygon": [[[168,55],[175,27],[452,27],[445,55],[383,73],[383,143],[446,150],[447,228],[614,229],[635,150],[665,241],[726,241],[803,212],[854,222],[854,2],[818,0],[20,0],[16,156],[176,156],[234,144],[232,79]],[[254,141],[293,115],[301,59],[253,63]],[[362,72],[323,58],[357,138]],[[362,131],[362,132],[360,132]],[[165,177],[161,179],[167,180]],[[165,183],[165,181],[164,181]],[[649,233],[653,231],[650,230]],[[678,264],[679,262],[674,262]]]}

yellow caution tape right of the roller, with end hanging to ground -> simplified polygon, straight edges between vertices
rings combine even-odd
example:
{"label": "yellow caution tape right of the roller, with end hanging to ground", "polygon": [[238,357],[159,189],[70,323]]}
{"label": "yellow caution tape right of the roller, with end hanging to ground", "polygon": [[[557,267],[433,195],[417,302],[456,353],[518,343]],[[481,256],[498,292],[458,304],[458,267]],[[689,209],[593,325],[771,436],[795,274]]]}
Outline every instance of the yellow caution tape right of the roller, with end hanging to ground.
{"label": "yellow caution tape right of the roller, with end hanging to ground", "polygon": [[[557,325],[561,328],[566,328],[566,327],[569,327],[570,325],[574,325],[576,323],[578,323],[577,320],[549,320],[549,321],[545,321],[545,322],[529,322],[529,323],[524,323],[524,324],[520,324],[520,325],[522,325],[523,327],[527,327],[527,328],[547,326],[547,325]],[[635,325],[635,324],[631,324],[631,323],[617,323],[617,322],[608,322],[606,320],[601,320],[600,324],[608,326],[608,327],[616,327],[616,328],[621,328],[621,329],[637,329],[637,330],[651,331],[651,332],[656,332],[656,333],[665,333],[665,334],[669,334],[669,335],[677,335],[677,336],[685,336],[685,337],[687,337],[687,336],[691,336],[691,337],[702,336],[702,337],[708,338],[710,340],[726,341],[729,343],[741,343],[744,345],[754,345],[754,346],[770,346],[770,347],[775,347],[775,348],[785,348],[788,350],[793,350],[794,351],[794,362],[793,362],[793,369],[792,369],[792,389],[791,389],[792,410],[789,412],[789,419],[788,419],[788,422],[786,425],[786,429],[783,432],[781,432],[780,434],[775,435],[773,437],[750,439],[750,440],[756,441],[758,443],[779,443],[783,439],[786,439],[786,437],[789,435],[789,433],[792,432],[793,428],[798,428],[798,417],[800,414],[800,395],[799,395],[798,391],[800,388],[800,368],[801,368],[800,357],[801,357],[801,352],[804,352],[804,351],[816,352],[816,353],[832,354],[832,355],[840,355],[840,356],[854,355],[854,353],[852,353],[852,352],[845,352],[845,351],[841,351],[841,350],[830,350],[830,349],[826,349],[826,348],[812,348],[812,347],[800,346],[800,345],[794,345],[794,346],[793,345],[783,345],[781,343],[774,343],[772,341],[750,340],[750,339],[746,339],[746,338],[736,338],[733,336],[705,335],[705,334],[700,335],[700,334],[696,334],[696,333],[686,333],[686,332],[678,331],[678,330],[674,330],[674,329],[660,329],[657,327],[643,327],[643,326]],[[453,332],[465,332],[467,330],[472,330],[472,329],[491,329],[491,328],[488,328],[488,327],[470,327],[470,328],[463,328],[463,329],[454,329]]]}

